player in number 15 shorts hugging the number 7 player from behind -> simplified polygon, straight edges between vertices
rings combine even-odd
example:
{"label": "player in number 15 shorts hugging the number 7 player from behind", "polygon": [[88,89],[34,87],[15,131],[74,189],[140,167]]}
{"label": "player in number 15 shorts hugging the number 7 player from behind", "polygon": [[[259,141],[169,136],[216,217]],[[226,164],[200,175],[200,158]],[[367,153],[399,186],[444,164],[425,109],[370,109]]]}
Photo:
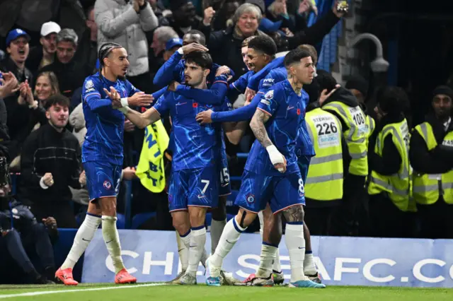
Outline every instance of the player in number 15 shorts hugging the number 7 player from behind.
{"label": "player in number 15 shorts hugging the number 7 player from behind", "polygon": [[[215,78],[220,74],[226,76],[232,76],[232,71],[227,66],[218,66],[212,64],[212,69],[207,76],[207,88],[209,89],[192,89],[188,85],[183,85],[185,77],[185,56],[191,52],[206,52],[208,49],[205,45],[205,35],[198,30],[189,30],[183,37],[183,47],[178,49],[164,65],[161,66],[159,71],[154,77],[154,84],[160,86],[168,85],[169,90],[173,90],[179,95],[183,95],[189,98],[197,98],[203,100],[206,105],[220,105],[221,109],[218,111],[232,110],[231,103],[225,98],[227,85],[223,85],[221,81],[217,81]],[[226,83],[226,81],[224,81]],[[217,110],[216,110],[217,111]],[[237,131],[244,131],[247,123],[241,122],[236,124],[234,122],[225,122],[224,124],[214,124],[214,129],[217,131],[217,151],[219,151],[219,160],[217,160],[219,170],[219,202],[217,208],[212,208],[212,221],[211,221],[211,250],[214,252],[215,248],[222,235],[224,226],[226,225],[226,196],[231,194],[231,184],[229,181],[229,168],[226,157],[226,147],[224,143],[224,131],[225,129],[227,136],[235,128]],[[229,141],[233,144],[238,144],[241,136],[234,135],[236,139],[229,138]],[[173,131],[171,133],[171,142],[173,142]],[[173,145],[171,143],[171,145]],[[178,242],[178,255],[181,261],[181,272],[176,276],[171,283],[179,283],[180,276],[185,273],[185,268],[188,263],[188,252],[189,250],[185,247],[178,231],[176,231],[176,241]],[[205,266],[205,260],[207,257],[205,254],[202,255],[202,265]],[[238,280],[233,278],[229,273],[222,271],[222,280],[224,284],[232,285],[239,283]]]}

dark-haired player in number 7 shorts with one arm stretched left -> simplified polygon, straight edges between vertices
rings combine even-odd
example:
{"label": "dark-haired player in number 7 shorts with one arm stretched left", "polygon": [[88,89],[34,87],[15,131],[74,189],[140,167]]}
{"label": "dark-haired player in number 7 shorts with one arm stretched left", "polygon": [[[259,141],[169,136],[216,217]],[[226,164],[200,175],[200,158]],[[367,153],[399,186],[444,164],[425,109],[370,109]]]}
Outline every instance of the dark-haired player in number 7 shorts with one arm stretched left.
{"label": "dark-haired player in number 7 shorts with one arm stretched left", "polygon": [[[206,89],[212,59],[207,52],[190,52],[185,55],[185,85],[197,95]],[[215,81],[225,81],[221,75]],[[224,90],[226,93],[226,89]],[[118,100],[117,100],[118,101]],[[205,252],[205,215],[208,208],[217,206],[219,194],[219,160],[217,129],[202,126],[195,121],[198,112],[207,110],[203,99],[188,98],[173,91],[159,98],[154,107],[142,114],[121,108],[127,119],[140,128],[148,126],[170,114],[173,123],[173,161],[168,189],[168,206],[173,226],[189,249],[188,268],[180,277],[180,284],[196,284],[196,272]],[[217,110],[217,108],[216,108]],[[236,131],[226,131],[231,138]]]}

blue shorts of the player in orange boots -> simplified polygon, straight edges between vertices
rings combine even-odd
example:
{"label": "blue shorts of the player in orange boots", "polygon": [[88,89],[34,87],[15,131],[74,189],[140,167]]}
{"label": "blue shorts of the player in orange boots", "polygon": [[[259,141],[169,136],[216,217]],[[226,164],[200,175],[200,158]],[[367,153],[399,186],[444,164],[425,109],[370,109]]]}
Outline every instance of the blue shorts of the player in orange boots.
{"label": "blue shorts of the player in orange boots", "polygon": [[117,196],[120,190],[121,165],[108,162],[90,161],[84,163],[86,189],[90,201]]}

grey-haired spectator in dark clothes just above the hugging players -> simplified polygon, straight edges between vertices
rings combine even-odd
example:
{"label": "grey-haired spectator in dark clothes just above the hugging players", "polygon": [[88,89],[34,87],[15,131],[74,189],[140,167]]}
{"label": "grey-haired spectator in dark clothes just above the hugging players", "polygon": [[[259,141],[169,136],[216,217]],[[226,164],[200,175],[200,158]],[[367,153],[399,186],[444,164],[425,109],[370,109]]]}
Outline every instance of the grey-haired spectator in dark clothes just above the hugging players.
{"label": "grey-haired spectator in dark clothes just above the hugging players", "polygon": [[226,30],[211,33],[207,42],[212,60],[220,66],[229,66],[234,71],[232,81],[248,70],[243,64],[241,55],[242,41],[252,35],[265,35],[258,30],[261,20],[261,11],[255,4],[242,4],[234,13],[234,26]]}

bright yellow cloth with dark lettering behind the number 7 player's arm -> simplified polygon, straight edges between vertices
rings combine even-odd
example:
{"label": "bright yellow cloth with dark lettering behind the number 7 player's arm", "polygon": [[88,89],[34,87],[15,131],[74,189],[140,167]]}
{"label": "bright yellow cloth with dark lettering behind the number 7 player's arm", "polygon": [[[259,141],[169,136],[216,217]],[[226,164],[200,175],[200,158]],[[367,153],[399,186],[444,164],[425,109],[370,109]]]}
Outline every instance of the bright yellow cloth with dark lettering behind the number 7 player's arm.
{"label": "bright yellow cloth with dark lettering behind the number 7 player's arm", "polygon": [[168,148],[169,140],[161,120],[145,128],[142,153],[135,175],[144,187],[154,193],[165,188],[164,151]]}

